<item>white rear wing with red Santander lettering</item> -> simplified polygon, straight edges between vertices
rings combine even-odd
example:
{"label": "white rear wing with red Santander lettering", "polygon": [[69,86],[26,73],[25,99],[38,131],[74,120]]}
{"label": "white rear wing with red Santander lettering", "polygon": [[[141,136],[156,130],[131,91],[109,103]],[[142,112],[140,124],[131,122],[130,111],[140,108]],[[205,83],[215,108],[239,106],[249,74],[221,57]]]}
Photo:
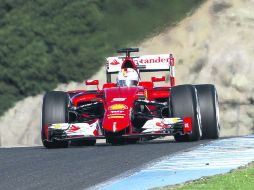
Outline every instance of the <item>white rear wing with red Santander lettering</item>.
{"label": "white rear wing with red Santander lettering", "polygon": [[[121,66],[126,57],[107,57],[106,74],[107,82],[111,82],[111,74],[121,71]],[[171,86],[175,85],[174,57],[172,54],[143,55],[132,57],[138,72],[169,71]]]}

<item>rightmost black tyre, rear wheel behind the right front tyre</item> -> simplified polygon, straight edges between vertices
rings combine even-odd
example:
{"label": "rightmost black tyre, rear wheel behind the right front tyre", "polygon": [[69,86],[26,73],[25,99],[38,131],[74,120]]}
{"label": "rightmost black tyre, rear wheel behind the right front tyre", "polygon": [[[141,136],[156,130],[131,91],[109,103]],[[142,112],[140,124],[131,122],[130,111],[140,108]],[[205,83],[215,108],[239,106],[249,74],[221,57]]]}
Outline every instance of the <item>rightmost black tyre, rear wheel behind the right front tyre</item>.
{"label": "rightmost black tyre, rear wheel behind the right front tyre", "polygon": [[220,136],[219,103],[214,85],[195,85],[202,118],[202,138],[218,139]]}

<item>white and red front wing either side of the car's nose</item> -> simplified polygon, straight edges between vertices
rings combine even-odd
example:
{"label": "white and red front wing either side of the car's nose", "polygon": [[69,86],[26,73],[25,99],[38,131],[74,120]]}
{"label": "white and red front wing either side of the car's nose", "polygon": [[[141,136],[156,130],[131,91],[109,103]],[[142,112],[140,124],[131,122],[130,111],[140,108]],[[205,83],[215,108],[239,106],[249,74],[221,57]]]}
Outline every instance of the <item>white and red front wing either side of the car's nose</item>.
{"label": "white and red front wing either side of the car's nose", "polygon": [[[92,123],[56,123],[48,127],[48,141],[75,139],[104,139],[103,127],[99,120]],[[192,132],[192,120],[185,118],[153,118],[142,126],[142,132],[130,133],[118,138],[160,137],[177,133],[184,135]]]}

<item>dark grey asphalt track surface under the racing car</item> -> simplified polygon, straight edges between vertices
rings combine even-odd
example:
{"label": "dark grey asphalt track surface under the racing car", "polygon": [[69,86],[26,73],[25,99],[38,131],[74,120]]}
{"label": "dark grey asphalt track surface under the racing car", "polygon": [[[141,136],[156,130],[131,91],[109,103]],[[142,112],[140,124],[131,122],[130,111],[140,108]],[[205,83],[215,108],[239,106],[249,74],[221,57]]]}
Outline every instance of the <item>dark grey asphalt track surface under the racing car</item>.
{"label": "dark grey asphalt track surface under the racing car", "polygon": [[163,156],[209,141],[151,141],[135,145],[45,149],[0,148],[0,189],[79,190],[135,171]]}

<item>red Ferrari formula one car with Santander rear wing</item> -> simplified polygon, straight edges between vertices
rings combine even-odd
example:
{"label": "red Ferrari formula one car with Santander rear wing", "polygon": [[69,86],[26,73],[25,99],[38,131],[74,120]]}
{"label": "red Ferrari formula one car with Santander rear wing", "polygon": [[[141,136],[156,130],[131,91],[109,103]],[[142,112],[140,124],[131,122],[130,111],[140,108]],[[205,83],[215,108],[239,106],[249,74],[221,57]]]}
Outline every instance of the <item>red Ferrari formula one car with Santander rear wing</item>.
{"label": "red Ferrari formula one car with Santander rear wing", "polygon": [[[123,57],[106,58],[107,83],[86,81],[97,90],[51,91],[43,98],[41,138],[46,148],[136,143],[173,135],[176,141],[219,137],[219,108],[213,85],[175,85],[172,54],[131,56],[138,48],[118,50]],[[140,73],[168,71],[166,77],[141,81]],[[116,76],[115,82],[111,81]]]}

